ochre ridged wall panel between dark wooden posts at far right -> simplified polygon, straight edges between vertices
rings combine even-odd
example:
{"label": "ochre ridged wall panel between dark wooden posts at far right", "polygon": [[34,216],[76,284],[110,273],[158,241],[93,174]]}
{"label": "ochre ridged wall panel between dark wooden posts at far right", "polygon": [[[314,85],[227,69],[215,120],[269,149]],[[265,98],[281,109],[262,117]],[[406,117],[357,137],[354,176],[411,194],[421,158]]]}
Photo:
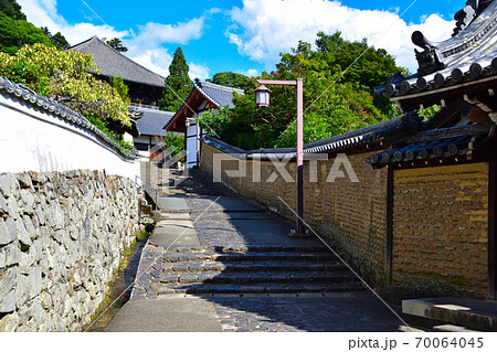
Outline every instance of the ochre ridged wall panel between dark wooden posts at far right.
{"label": "ochre ridged wall panel between dark wooden posts at far right", "polygon": [[393,284],[486,297],[488,163],[396,170],[393,189]]}

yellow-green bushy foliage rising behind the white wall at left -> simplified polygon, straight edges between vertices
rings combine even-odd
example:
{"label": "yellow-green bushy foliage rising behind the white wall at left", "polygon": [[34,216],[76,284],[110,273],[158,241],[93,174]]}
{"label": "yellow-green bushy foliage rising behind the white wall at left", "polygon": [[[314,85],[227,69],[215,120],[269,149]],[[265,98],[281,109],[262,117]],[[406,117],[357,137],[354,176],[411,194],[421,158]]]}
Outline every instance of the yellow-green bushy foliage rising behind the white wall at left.
{"label": "yellow-green bushy foliage rising behind the white wall at left", "polygon": [[[36,93],[47,96],[88,118],[116,141],[121,136],[110,132],[109,122],[130,126],[127,114],[126,89],[115,78],[109,84],[95,78],[89,71],[98,72],[92,55],[77,51],[59,51],[40,43],[22,46],[14,55],[0,53],[0,75],[25,84]],[[121,83],[121,82],[120,82]]]}

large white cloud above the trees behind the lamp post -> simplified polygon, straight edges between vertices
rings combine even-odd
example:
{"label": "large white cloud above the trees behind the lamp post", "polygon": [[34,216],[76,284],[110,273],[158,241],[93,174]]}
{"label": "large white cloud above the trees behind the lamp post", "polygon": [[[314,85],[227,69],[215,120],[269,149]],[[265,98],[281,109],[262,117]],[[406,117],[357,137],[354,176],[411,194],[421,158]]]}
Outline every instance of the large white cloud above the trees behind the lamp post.
{"label": "large white cloud above the trees behind the lamp post", "polygon": [[399,65],[414,71],[412,32],[421,30],[430,40],[441,41],[451,36],[454,25],[437,14],[421,24],[408,24],[394,11],[358,10],[327,0],[244,0],[242,9],[230,11],[235,24],[226,36],[242,55],[273,70],[279,53],[289,52],[299,40],[314,44],[318,31],[340,31],[347,40],[368,39],[370,45],[394,55]]}

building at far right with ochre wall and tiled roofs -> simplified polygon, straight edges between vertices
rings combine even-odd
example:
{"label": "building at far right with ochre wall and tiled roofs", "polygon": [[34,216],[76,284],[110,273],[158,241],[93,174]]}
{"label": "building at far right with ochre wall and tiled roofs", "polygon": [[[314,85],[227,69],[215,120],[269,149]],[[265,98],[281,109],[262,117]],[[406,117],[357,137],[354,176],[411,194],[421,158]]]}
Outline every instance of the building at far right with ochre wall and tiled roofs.
{"label": "building at far right with ochre wall and tiled roofs", "polygon": [[441,110],[367,160],[388,168],[388,281],[496,299],[497,1],[468,1],[455,19],[440,43],[414,32],[417,73],[377,88],[403,111]]}

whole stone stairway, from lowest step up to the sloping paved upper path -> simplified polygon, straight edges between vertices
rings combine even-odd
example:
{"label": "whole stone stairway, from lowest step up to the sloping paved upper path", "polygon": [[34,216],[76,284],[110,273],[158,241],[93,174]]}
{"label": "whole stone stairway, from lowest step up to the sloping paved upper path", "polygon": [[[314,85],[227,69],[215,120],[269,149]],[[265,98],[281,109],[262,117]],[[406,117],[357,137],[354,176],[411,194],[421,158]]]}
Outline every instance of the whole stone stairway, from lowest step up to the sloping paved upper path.
{"label": "whole stone stairway, from lowest step up to the sloping paved upper path", "polygon": [[169,181],[169,194],[159,198],[161,222],[150,246],[160,253],[160,265],[151,268],[150,282],[142,282],[137,297],[139,292],[240,297],[363,290],[317,238],[290,238],[292,225],[234,198],[200,170],[190,170],[190,175],[173,188],[173,180]]}

